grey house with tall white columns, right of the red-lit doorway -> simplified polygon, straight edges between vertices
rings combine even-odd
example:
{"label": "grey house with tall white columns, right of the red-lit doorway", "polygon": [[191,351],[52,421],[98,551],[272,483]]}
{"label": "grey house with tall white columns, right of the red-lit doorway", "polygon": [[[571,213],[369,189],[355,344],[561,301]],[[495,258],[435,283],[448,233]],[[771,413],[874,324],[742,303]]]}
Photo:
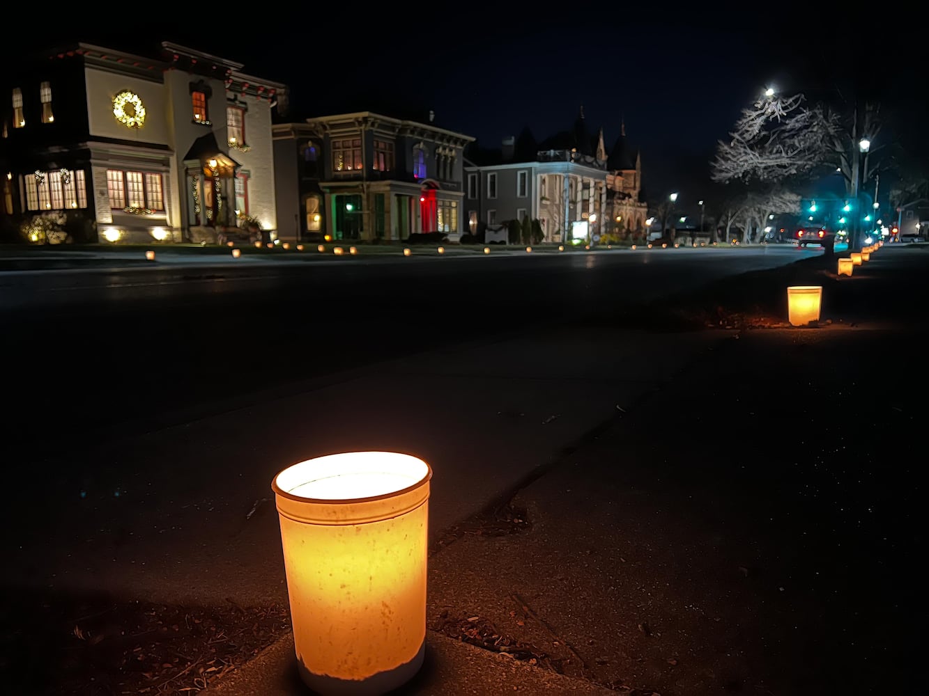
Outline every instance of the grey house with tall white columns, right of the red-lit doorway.
{"label": "grey house with tall white columns, right of the red-lit doorway", "polygon": [[616,177],[603,131],[589,135],[583,110],[571,130],[527,149],[509,137],[499,150],[469,152],[464,209],[471,234],[525,217],[539,221],[546,242],[595,242],[612,230],[608,193]]}

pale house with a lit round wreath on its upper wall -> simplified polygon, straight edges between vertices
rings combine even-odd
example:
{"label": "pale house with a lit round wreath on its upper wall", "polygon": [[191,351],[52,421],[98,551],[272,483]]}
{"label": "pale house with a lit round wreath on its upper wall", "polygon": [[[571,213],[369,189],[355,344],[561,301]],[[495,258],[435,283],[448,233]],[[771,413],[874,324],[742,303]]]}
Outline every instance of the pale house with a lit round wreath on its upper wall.
{"label": "pale house with a lit round wreath on its upper wall", "polygon": [[4,222],[33,241],[272,235],[271,110],[286,88],[242,68],[165,42],[156,58],[77,44],[7,71]]}

